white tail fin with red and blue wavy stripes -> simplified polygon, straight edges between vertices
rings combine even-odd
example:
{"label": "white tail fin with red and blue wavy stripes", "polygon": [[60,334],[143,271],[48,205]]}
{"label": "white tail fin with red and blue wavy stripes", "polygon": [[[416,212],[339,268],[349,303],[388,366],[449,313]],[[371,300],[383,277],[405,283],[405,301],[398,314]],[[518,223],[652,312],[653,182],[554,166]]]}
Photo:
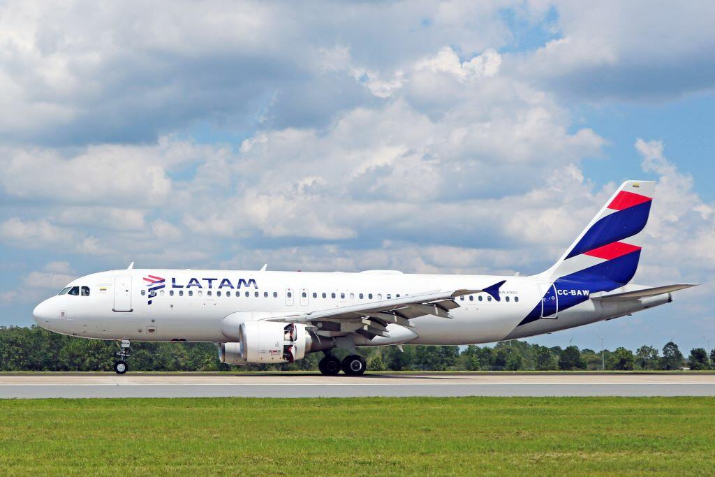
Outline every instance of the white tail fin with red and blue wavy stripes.
{"label": "white tail fin with red and blue wavy stripes", "polygon": [[[553,267],[551,280],[601,282],[603,289],[625,285],[636,274],[656,183],[623,182]],[[595,291],[595,290],[594,290]]]}

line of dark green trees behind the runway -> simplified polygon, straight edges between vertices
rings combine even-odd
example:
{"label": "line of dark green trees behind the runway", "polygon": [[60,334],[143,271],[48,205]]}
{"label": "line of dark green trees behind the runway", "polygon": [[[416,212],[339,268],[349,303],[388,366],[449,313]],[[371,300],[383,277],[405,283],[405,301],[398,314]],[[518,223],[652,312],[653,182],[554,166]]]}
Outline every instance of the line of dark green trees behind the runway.
{"label": "line of dark green trees behind the runway", "polygon": [[[511,340],[495,346],[404,345],[359,348],[370,370],[691,370],[715,369],[715,350],[693,348],[687,358],[678,345],[659,350],[644,345],[596,351],[576,346],[551,348]],[[51,333],[38,326],[0,327],[0,371],[109,371],[117,343]],[[335,350],[342,358],[345,350]],[[317,370],[322,353],[295,363],[248,365],[239,368],[218,360],[212,343],[132,343],[132,370]]]}

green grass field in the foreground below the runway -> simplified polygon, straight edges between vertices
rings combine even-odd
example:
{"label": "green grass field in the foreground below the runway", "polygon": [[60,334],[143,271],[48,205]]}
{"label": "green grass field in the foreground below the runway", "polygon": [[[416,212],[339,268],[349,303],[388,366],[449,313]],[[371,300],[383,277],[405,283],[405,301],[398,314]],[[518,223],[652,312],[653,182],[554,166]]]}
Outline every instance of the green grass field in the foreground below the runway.
{"label": "green grass field in the foreground below the runway", "polygon": [[0,475],[715,473],[715,398],[0,400]]}

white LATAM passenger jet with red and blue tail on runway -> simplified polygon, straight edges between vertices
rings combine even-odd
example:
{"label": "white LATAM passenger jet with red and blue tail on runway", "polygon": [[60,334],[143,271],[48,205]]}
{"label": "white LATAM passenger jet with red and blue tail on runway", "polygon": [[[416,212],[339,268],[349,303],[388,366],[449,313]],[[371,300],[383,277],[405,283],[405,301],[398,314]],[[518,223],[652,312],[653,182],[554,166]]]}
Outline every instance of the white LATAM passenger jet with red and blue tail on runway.
{"label": "white LATAM passenger jet with red and blue tail on runway", "polygon": [[[628,180],[571,247],[531,276],[423,275],[396,270],[126,270],[86,275],[32,312],[56,333],[132,341],[216,343],[222,363],[292,363],[324,353],[320,372],[361,375],[357,348],[468,345],[552,333],[671,303],[696,286],[631,284],[655,182]],[[332,350],[350,353],[338,360]]]}

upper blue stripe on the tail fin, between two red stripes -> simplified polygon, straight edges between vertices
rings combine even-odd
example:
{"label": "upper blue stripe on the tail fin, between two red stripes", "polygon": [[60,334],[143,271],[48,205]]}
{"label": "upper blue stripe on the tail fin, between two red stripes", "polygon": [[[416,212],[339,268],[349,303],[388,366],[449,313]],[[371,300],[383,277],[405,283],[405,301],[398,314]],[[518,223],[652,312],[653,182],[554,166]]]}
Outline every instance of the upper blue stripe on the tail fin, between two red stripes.
{"label": "upper blue stripe on the tail fin, between two red stripes", "polygon": [[651,201],[649,200],[648,202],[628,207],[628,209],[613,212],[611,215],[606,215],[606,217],[598,220],[588,229],[586,235],[583,235],[581,240],[573,246],[566,258],[636,235],[646,226],[650,211]]}

